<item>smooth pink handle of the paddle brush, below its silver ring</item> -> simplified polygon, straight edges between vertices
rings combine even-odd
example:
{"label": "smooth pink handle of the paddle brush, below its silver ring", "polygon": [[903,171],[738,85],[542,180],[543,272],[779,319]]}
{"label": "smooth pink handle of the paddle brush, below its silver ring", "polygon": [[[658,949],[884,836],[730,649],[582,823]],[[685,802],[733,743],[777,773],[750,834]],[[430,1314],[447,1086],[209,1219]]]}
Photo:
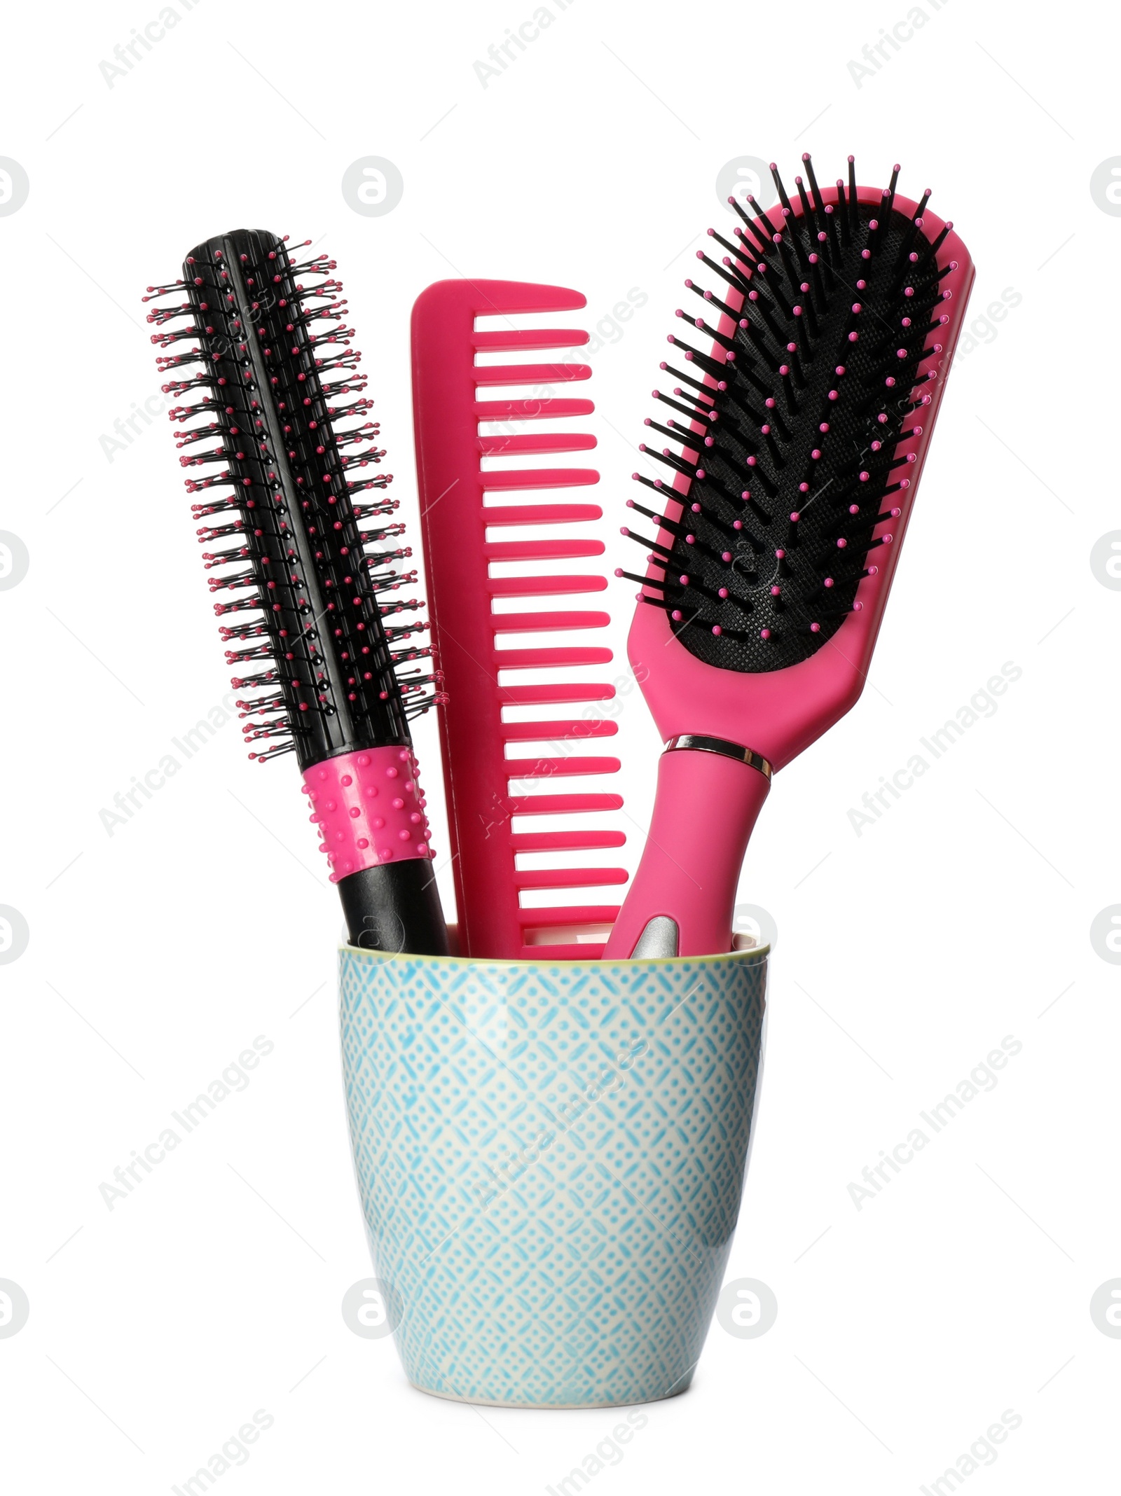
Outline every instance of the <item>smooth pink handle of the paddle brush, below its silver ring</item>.
{"label": "smooth pink handle of the paddle brush, below its silver ring", "polygon": [[723,754],[694,748],[662,754],[647,847],[605,960],[626,960],[660,914],[678,928],[678,956],[732,948],[739,868],[769,788],[760,769]]}

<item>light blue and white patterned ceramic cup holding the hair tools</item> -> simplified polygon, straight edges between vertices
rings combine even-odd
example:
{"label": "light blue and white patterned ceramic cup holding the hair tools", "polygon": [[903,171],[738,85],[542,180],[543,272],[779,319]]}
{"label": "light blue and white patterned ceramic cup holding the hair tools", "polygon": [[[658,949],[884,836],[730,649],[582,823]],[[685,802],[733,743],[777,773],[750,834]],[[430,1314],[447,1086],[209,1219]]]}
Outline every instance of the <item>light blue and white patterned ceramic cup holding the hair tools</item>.
{"label": "light blue and white patterned ceramic cup holding the hair tools", "polygon": [[415,1387],[521,1408],[688,1387],[739,1213],[765,987],[766,948],[341,948],[359,1192]]}

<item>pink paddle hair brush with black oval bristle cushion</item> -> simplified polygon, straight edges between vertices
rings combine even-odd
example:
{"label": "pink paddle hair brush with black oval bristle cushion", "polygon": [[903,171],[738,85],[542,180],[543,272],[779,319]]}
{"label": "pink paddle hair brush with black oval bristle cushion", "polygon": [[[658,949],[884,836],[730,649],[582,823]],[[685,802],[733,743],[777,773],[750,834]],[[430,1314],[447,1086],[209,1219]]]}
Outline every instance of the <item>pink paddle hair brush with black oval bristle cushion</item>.
{"label": "pink paddle hair brush with black oval bristle cushion", "polygon": [[[657,525],[627,652],[666,744],[647,847],[606,957],[724,951],[771,775],[858,700],[961,331],[973,262],[950,223],[895,191],[748,194],[717,289],[671,335],[673,446],[633,474]],[[706,313],[693,316],[691,313]],[[711,347],[709,347],[711,346]],[[709,347],[709,352],[703,352]],[[629,530],[623,531],[630,534]]]}

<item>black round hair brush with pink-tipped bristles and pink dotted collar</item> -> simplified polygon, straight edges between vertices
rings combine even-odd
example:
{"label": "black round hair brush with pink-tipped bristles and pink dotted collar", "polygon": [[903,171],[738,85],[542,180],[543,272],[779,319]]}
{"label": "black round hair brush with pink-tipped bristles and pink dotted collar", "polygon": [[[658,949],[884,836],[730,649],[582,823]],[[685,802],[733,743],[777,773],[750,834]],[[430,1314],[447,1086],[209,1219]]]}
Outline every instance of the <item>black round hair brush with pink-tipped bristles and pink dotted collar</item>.
{"label": "black round hair brush with pink-tipped bristles and pink dotted collar", "polygon": [[[238,229],[199,244],[183,280],[150,286],[180,462],[259,763],[295,752],[355,945],[443,954],[448,931],[409,720],[436,678],[404,598],[398,507],[379,426],[364,420],[353,329],[325,254],[293,265],[284,239]],[[304,284],[301,277],[310,277]],[[186,293],[186,299],[184,298]],[[171,326],[169,326],[171,325]],[[181,350],[178,346],[184,344]],[[358,396],[337,404],[341,396]],[[404,562],[400,567],[398,562]]]}

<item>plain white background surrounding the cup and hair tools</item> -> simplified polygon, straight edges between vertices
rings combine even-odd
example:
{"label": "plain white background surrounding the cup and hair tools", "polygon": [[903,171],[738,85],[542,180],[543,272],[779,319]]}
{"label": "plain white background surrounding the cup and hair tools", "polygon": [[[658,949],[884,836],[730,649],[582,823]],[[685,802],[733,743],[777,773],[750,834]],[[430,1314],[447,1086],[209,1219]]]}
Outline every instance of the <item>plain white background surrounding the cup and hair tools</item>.
{"label": "plain white background surrounding the cup and hair tools", "polygon": [[[241,224],[335,254],[416,536],[415,295],[458,272],[555,281],[593,325],[639,287],[588,387],[608,562],[633,564],[633,446],[691,238],[729,223],[717,172],[751,154],[789,181],[802,150],[823,181],[849,151],[876,184],[901,160],[901,190],[934,187],[974,254],[973,317],[1007,287],[1022,302],[952,374],[865,697],[777,779],[742,875],[780,938],[729,1278],[769,1284],[777,1324],[714,1327],[693,1390],[591,1489],[916,1490],[1004,1409],[1022,1424],[970,1490],[1108,1489],[1121,1340],[1088,1306],[1121,1276],[1121,972],[1090,925],[1121,899],[1121,594],[1090,551],[1121,527],[1121,220],[1090,177],[1121,153],[1117,21],[923,0],[928,24],[858,87],[849,61],[905,0],[573,0],[483,88],[473,63],[533,0],[175,9],[112,88],[99,63],[159,0],[7,21],[0,154],[30,178],[0,218],[0,530],[30,552],[0,592],[0,904],[30,928],[0,972],[0,1278],[30,1300],[0,1339],[9,1489],[166,1492],[263,1408],[222,1492],[521,1496],[618,1421],[437,1402],[343,1322],[371,1269],[340,916],[292,760],[248,764],[229,724],[102,824],[226,691],[163,417],[112,462],[99,440],[159,387],[141,292]],[[368,154],[404,177],[385,217],[340,190]],[[633,588],[612,585],[623,672]],[[849,809],[1006,661],[1022,678],[995,715],[858,836]],[[657,752],[638,694],[618,742],[633,866]],[[431,723],[419,754],[439,805]],[[248,1088],[106,1209],[114,1167],[256,1035],[275,1047]],[[997,1088],[858,1210],[849,1183],[1004,1035],[1022,1052]]]}

